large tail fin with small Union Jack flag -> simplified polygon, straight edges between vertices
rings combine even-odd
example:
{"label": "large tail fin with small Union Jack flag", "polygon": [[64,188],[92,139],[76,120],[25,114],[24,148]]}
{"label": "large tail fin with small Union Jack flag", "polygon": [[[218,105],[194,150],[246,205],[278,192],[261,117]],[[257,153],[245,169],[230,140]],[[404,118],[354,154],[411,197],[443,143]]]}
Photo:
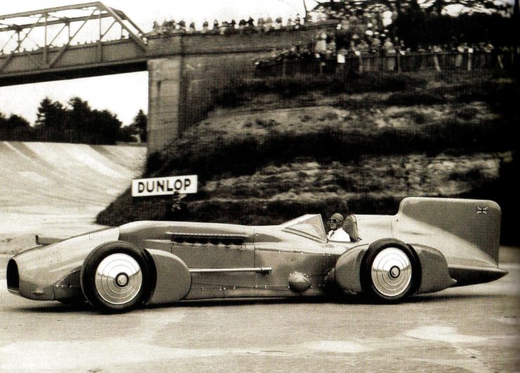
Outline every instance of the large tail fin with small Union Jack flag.
{"label": "large tail fin with small Union Jack flag", "polygon": [[460,237],[498,263],[501,217],[498,203],[476,199],[409,197],[401,201],[399,215]]}

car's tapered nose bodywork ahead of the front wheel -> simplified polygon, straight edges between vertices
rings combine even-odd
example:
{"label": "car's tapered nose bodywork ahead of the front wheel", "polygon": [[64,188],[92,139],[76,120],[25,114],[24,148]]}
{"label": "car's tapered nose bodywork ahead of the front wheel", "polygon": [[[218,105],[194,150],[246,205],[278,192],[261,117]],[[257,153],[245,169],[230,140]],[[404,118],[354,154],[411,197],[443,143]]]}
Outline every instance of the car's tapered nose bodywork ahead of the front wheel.
{"label": "car's tapered nose bodywork ahead of the front wheel", "polygon": [[69,298],[65,288],[60,288],[55,294],[56,285],[67,284],[65,278],[82,266],[94,248],[118,238],[119,229],[108,228],[15,255],[13,260],[18,267],[20,286],[18,294],[41,301],[53,301],[63,296]]}

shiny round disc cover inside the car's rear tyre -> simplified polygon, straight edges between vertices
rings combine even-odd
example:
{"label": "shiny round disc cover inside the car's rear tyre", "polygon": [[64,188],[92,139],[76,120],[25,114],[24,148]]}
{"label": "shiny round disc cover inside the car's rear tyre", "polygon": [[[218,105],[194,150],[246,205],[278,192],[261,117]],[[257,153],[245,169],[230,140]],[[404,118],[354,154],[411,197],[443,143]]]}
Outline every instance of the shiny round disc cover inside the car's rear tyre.
{"label": "shiny round disc cover inside the car's rear tyre", "polygon": [[384,248],[372,261],[372,284],[387,297],[403,295],[412,280],[408,255],[398,248]]}

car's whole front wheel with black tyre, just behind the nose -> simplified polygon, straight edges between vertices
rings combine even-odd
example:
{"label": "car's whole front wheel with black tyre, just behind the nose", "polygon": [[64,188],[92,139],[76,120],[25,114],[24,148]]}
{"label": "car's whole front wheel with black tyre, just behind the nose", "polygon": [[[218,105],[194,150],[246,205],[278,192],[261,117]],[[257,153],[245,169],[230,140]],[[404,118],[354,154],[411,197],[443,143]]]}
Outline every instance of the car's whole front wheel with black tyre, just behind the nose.
{"label": "car's whole front wheel with black tyre, just behind the nose", "polygon": [[104,244],[83,263],[82,291],[100,312],[128,312],[150,295],[152,266],[145,251],[134,245],[123,241]]}

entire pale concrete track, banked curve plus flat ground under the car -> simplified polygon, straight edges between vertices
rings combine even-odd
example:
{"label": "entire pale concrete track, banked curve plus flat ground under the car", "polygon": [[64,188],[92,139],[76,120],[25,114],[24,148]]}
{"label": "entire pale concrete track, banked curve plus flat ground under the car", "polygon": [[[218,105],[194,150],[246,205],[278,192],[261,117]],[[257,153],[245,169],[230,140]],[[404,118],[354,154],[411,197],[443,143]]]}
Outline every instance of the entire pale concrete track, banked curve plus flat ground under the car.
{"label": "entire pale concrete track, banked curve plus flat ground under the car", "polygon": [[[94,229],[144,157],[129,146],[0,142],[0,244]],[[230,300],[99,315],[8,293],[0,251],[0,372],[518,372],[518,253],[501,248],[509,274],[497,282],[398,305]]]}

